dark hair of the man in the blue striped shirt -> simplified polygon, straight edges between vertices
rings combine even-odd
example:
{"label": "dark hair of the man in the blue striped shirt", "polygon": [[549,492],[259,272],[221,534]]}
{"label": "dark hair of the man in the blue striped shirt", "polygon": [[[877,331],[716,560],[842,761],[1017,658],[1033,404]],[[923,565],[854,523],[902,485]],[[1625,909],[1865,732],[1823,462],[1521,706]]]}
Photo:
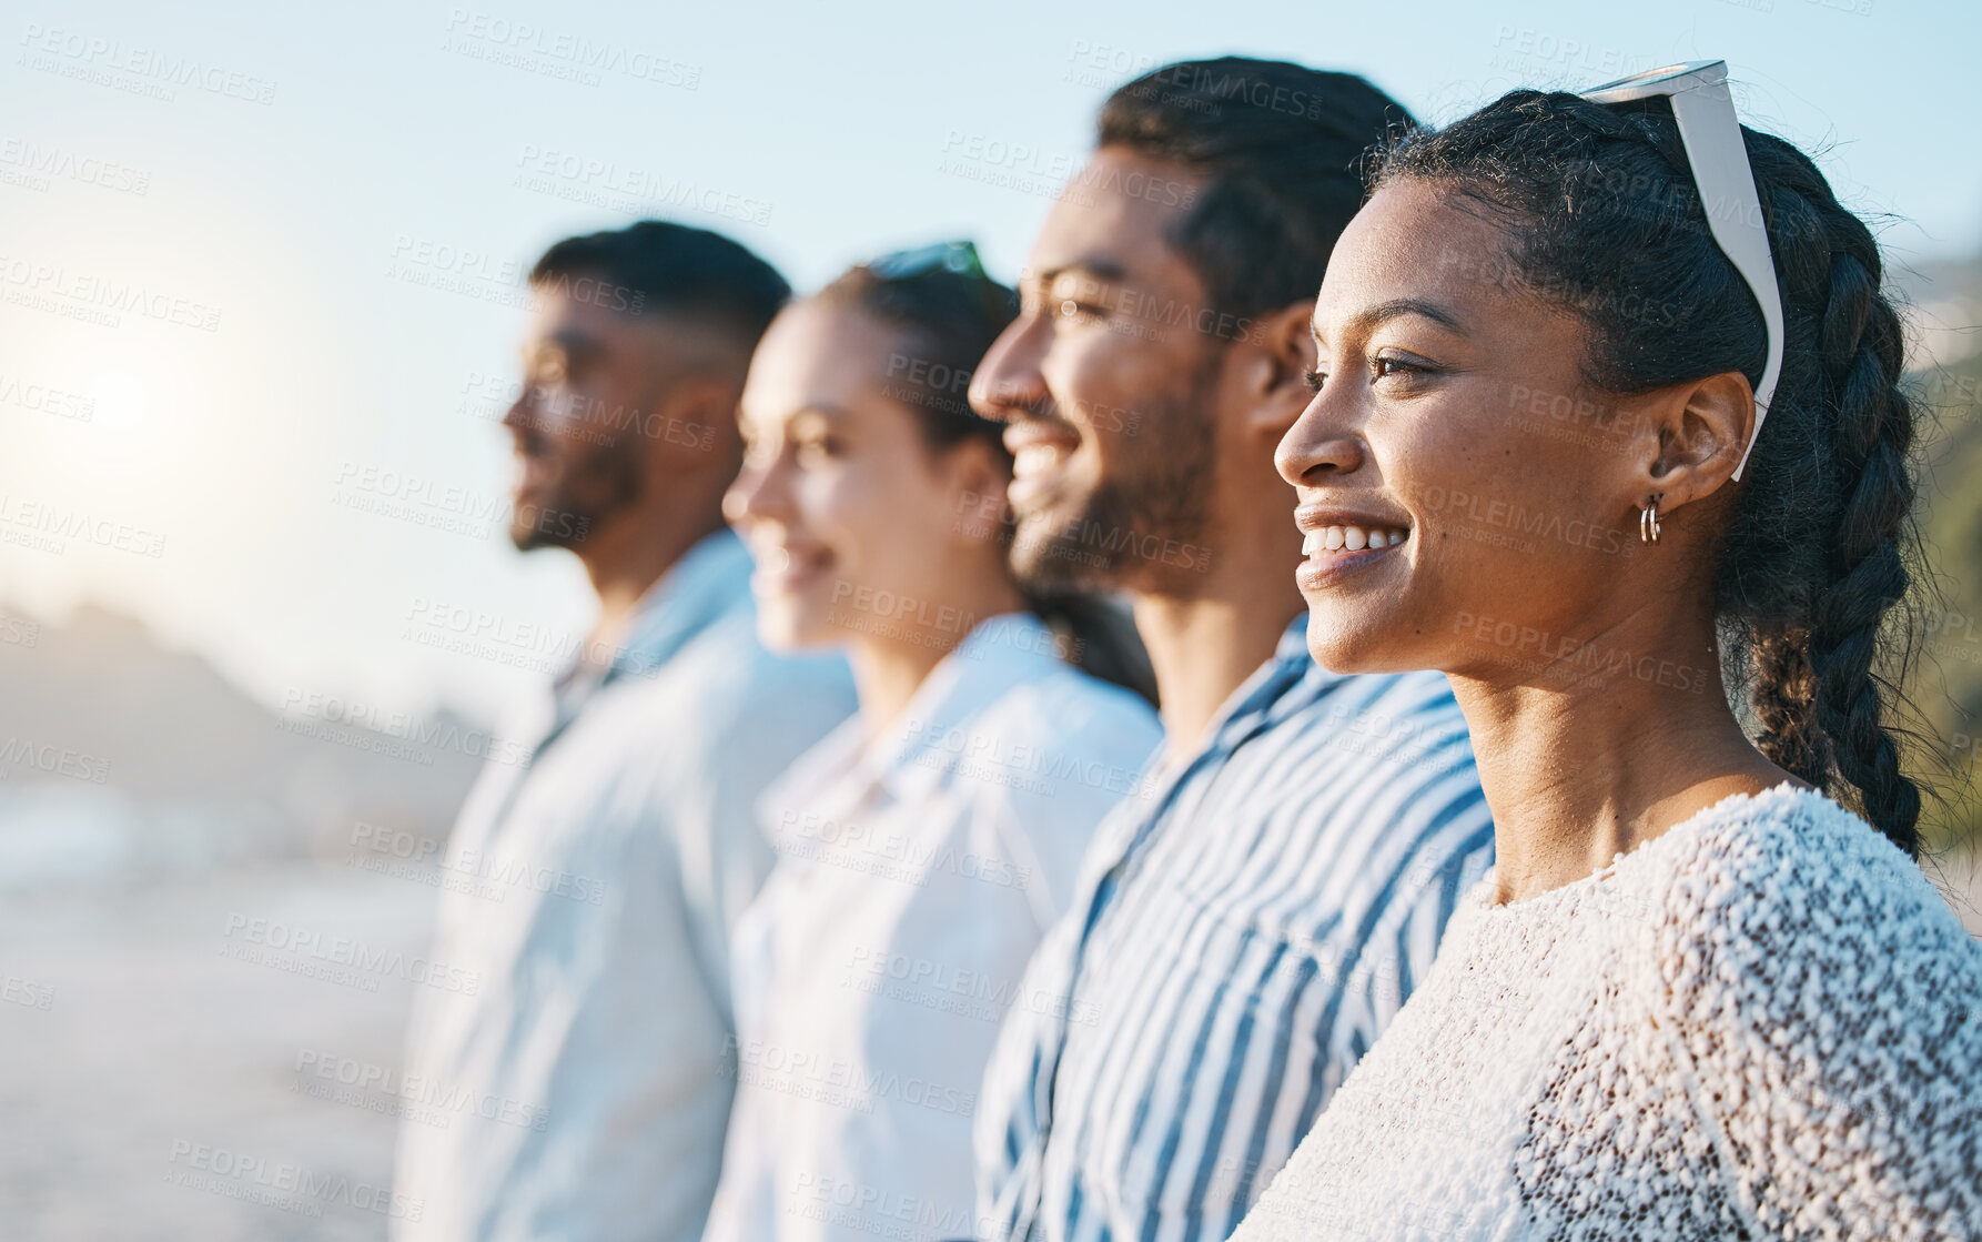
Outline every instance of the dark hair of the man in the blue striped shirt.
{"label": "dark hair of the man in the blue striped shirt", "polygon": [[1100,145],[1205,176],[1171,232],[1213,305],[1308,301],[1364,202],[1364,155],[1413,125],[1356,73],[1225,55],[1152,69],[1102,105]]}

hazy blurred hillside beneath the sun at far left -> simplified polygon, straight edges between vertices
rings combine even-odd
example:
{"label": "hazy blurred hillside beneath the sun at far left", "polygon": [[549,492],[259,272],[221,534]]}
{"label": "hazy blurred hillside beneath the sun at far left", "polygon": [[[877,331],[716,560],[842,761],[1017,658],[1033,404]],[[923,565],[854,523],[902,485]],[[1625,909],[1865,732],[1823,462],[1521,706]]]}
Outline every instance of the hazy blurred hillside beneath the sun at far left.
{"label": "hazy blurred hillside beneath the sun at far left", "polygon": [[101,608],[0,614],[0,889],[349,856],[359,822],[438,840],[486,737],[301,691],[270,711]]}

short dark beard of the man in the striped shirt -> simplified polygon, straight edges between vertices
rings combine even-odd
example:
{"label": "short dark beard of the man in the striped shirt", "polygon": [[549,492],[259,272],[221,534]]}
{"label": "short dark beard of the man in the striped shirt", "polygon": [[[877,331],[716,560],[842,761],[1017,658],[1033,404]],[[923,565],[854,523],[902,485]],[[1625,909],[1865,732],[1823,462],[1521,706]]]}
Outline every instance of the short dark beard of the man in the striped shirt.
{"label": "short dark beard of the man in the striped shirt", "polygon": [[1205,572],[1217,471],[1213,378],[1215,368],[1201,366],[1179,396],[1144,402],[1150,416],[1136,460],[1118,462],[1072,517],[1048,511],[1019,519],[1011,569],[1021,584],[1035,592],[1150,590]]}

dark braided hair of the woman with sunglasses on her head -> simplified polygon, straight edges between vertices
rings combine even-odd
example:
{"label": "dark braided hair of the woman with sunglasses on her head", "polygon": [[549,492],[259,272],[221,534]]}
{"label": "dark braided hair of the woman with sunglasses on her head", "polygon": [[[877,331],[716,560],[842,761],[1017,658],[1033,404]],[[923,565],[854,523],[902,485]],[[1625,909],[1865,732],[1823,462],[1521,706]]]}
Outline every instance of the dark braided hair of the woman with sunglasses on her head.
{"label": "dark braided hair of the woman with sunglasses on her head", "polygon": [[[1728,673],[1756,745],[1919,854],[1899,767],[1903,602],[1919,563],[1915,410],[1879,248],[1796,147],[1744,131],[1784,301],[1784,362],[1714,576]],[[1512,234],[1528,291],[1588,329],[1590,380],[1637,394],[1738,370],[1768,329],[1707,226],[1665,101],[1514,91],[1383,153],[1377,184],[1435,180]],[[1899,644],[1895,646],[1895,640]]]}

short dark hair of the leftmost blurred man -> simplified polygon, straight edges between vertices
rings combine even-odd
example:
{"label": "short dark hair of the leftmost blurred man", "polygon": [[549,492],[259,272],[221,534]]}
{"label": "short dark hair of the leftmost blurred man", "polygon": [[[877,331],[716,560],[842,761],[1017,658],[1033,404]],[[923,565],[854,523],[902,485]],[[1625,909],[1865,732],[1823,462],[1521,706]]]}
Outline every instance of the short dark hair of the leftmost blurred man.
{"label": "short dark hair of the leftmost blurred man", "polygon": [[733,331],[745,347],[791,299],[785,277],[737,242],[666,220],[565,238],[529,269],[531,285],[575,287],[583,277],[606,283],[587,297],[608,309],[692,315]]}

